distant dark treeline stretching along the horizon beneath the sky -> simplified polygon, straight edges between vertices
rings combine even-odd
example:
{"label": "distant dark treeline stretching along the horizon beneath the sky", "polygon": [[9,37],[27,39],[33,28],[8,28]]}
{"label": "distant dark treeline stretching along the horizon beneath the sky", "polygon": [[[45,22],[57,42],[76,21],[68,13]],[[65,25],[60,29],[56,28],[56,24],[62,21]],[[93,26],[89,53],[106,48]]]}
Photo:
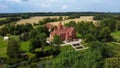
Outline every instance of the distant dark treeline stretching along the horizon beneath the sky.
{"label": "distant dark treeline stretching along the horizon beneath the sky", "polygon": [[105,12],[35,12],[35,13],[1,13],[0,17],[19,17],[22,14],[29,14],[30,16],[70,16],[70,15],[80,15],[80,16],[95,16],[96,14],[113,14],[118,15],[120,13],[105,13]]}

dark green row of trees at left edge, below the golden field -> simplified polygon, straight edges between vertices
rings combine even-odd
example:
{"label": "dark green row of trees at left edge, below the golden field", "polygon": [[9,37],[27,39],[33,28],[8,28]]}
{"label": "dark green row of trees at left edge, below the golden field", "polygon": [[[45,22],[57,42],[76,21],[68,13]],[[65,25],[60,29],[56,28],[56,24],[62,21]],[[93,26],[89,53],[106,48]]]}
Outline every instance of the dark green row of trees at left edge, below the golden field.
{"label": "dark green row of trees at left edge, below the golden field", "polygon": [[7,34],[11,35],[20,35],[24,32],[29,32],[33,29],[31,24],[22,24],[22,25],[15,25],[15,24],[6,24],[0,29],[0,35],[5,36]]}

